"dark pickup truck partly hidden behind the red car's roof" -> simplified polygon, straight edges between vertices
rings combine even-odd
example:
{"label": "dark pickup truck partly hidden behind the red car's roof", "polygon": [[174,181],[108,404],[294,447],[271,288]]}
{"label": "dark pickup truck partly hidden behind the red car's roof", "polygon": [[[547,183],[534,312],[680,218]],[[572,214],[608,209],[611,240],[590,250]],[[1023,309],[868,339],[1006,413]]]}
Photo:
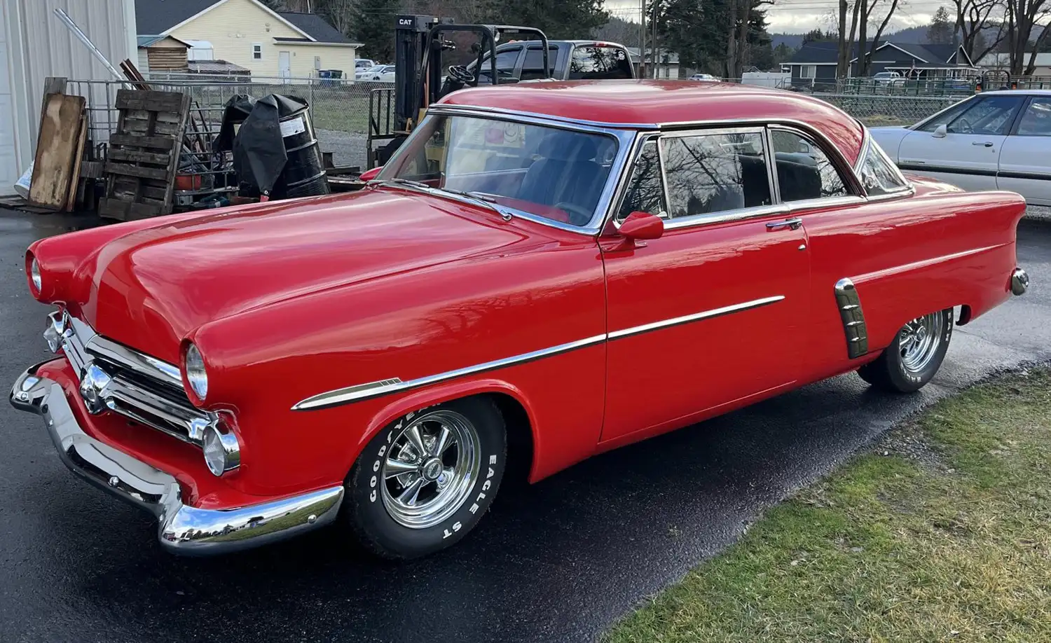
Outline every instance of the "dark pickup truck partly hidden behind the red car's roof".
{"label": "dark pickup truck partly hidden behind the red car's roof", "polygon": [[[635,78],[635,66],[624,45],[595,40],[551,40],[548,42],[548,64],[552,74],[543,70],[543,46],[538,41],[507,42],[496,47],[496,75],[499,83],[540,80],[607,80]],[[468,65],[474,74],[477,61]],[[479,85],[493,80],[489,56],[482,59]]]}

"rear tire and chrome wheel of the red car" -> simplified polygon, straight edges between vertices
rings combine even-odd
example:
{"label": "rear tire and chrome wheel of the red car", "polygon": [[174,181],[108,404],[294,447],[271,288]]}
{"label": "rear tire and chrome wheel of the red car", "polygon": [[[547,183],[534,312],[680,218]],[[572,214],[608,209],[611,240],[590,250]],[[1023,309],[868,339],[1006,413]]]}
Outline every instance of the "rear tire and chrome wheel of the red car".
{"label": "rear tire and chrome wheel of the red car", "polygon": [[952,309],[916,317],[894,335],[874,361],[858,370],[873,387],[893,393],[922,389],[942,367],[952,338]]}

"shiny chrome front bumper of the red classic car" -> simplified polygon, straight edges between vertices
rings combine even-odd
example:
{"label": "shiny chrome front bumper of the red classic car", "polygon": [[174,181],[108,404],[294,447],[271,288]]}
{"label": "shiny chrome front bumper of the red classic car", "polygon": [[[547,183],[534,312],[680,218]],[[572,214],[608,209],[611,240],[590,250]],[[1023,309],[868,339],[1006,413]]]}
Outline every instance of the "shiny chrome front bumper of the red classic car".
{"label": "shiny chrome front bumper of the red classic car", "polygon": [[284,540],[335,520],[343,486],[230,510],[183,504],[173,476],[87,435],[53,379],[34,367],[15,381],[11,403],[44,418],[65,465],[91,484],[158,517],[161,546],[174,554],[211,556]]}

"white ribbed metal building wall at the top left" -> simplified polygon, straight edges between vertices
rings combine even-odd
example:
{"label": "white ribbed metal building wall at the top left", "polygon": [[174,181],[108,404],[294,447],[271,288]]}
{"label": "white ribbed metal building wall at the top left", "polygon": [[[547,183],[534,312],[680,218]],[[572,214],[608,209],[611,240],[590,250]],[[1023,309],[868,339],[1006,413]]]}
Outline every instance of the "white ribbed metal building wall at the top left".
{"label": "white ribbed metal building wall at the top left", "polygon": [[114,63],[137,60],[135,0],[0,0],[0,194],[33,161],[44,79],[112,78],[55,16],[64,8]]}

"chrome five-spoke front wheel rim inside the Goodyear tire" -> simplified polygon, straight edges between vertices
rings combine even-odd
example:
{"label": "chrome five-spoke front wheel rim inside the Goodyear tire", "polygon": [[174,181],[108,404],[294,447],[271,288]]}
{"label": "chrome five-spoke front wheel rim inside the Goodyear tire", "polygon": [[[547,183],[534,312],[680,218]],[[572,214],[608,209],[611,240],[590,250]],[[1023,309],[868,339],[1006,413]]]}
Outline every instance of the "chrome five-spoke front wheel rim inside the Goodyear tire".
{"label": "chrome five-spoke front wheel rim inside the Goodyear tire", "polygon": [[481,442],[471,420],[450,410],[424,412],[395,434],[384,461],[384,506],[395,522],[427,528],[463,504],[478,477]]}

